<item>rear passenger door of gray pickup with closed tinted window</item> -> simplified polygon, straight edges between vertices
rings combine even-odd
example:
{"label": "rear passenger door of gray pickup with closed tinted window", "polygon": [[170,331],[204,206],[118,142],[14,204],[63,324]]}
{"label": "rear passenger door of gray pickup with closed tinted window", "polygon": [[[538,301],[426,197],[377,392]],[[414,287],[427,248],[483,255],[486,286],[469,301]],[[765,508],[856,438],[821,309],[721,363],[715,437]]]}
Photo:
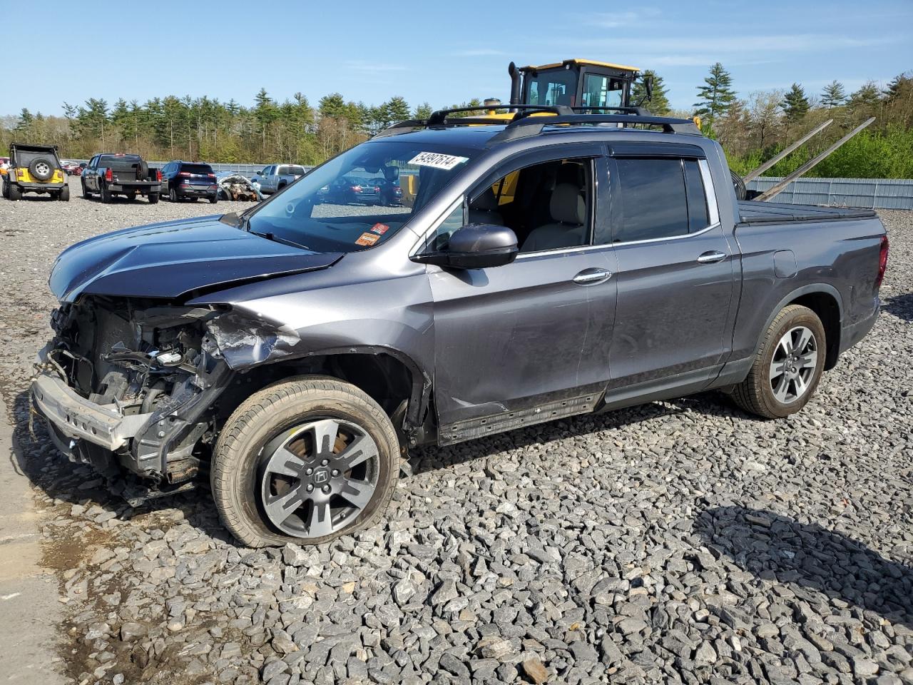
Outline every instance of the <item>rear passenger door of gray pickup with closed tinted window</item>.
{"label": "rear passenger door of gray pickup with closed tinted window", "polygon": [[707,385],[730,347],[735,246],[699,146],[612,146],[618,309],[607,401]]}

